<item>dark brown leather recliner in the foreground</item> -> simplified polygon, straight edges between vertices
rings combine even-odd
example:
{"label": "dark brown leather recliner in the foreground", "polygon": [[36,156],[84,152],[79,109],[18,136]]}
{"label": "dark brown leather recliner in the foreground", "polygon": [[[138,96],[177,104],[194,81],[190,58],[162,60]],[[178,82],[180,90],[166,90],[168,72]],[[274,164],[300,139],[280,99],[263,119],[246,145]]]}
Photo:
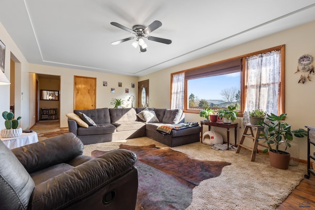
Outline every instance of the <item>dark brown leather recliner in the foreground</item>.
{"label": "dark brown leather recliner in the foreground", "polygon": [[72,133],[13,150],[0,141],[0,209],[134,210],[135,153],[82,153],[83,143]]}

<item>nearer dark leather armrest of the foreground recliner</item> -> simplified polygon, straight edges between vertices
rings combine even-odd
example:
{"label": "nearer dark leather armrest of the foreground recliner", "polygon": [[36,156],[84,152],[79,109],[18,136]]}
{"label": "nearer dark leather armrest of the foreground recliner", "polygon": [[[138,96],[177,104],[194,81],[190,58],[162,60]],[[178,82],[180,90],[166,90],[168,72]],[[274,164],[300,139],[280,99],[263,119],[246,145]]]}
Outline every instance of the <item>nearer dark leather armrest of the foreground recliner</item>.
{"label": "nearer dark leather armrest of the foreground recliner", "polygon": [[136,159],[134,152],[125,149],[98,156],[35,186],[29,208],[66,208],[134,169]]}

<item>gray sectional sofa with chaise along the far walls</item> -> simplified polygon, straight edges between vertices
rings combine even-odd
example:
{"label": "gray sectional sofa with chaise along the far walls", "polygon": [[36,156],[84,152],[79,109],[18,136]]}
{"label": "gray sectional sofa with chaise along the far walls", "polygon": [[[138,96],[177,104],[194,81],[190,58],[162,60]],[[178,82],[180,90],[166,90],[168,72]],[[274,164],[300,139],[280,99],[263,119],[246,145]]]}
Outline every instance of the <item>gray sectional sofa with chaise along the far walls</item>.
{"label": "gray sectional sofa with chaise along the far walls", "polygon": [[[199,142],[200,126],[172,129],[170,134],[157,131],[159,125],[185,122],[185,114],[177,109],[126,108],[74,110],[77,116],[88,116],[96,126],[82,127],[78,120],[68,118],[69,132],[74,133],[85,145],[118,141],[147,136],[169,147]],[[144,114],[155,115],[152,120],[144,119]],[[142,120],[141,120],[142,119]],[[157,120],[158,119],[158,120]],[[86,120],[85,120],[86,121]],[[88,121],[88,123],[90,122]]]}

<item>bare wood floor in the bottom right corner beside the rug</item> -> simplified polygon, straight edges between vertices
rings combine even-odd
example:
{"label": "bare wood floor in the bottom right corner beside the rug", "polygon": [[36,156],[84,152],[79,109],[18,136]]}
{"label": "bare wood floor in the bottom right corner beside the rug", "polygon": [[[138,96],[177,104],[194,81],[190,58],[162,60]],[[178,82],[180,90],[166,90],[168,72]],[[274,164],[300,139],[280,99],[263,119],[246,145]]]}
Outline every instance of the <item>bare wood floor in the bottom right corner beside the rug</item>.
{"label": "bare wood floor in the bottom right corner beside the rug", "polygon": [[277,210],[315,210],[315,177],[302,180]]}

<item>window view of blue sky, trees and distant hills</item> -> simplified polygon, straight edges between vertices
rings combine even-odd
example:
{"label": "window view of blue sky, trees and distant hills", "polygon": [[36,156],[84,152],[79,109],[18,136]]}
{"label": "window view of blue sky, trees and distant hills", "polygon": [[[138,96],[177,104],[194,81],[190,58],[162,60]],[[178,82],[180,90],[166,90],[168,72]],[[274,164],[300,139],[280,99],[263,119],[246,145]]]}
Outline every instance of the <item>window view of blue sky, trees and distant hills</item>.
{"label": "window view of blue sky, trees and distant hills", "polygon": [[236,106],[240,110],[240,79],[241,72],[236,72],[188,80],[188,109]]}

